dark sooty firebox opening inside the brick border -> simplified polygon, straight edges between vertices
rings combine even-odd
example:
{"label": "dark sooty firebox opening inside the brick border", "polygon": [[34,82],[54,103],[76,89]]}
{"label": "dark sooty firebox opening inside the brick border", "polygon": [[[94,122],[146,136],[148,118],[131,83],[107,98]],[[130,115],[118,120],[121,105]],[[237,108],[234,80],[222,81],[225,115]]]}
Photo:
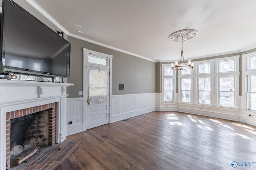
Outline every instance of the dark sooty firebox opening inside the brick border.
{"label": "dark sooty firebox opening inside the brick border", "polygon": [[10,158],[49,144],[49,110],[11,119]]}

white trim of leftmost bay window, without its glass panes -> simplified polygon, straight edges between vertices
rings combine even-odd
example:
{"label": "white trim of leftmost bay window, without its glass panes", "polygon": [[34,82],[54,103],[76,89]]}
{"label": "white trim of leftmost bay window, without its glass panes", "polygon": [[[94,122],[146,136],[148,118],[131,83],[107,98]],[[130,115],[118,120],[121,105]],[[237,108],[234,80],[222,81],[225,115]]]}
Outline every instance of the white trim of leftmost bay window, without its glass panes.
{"label": "white trim of leftmost bay window, without its glass panes", "polygon": [[[164,75],[164,66],[171,66],[171,64],[162,64],[162,104],[171,104],[177,102],[177,95],[176,95],[176,70],[173,70],[173,75]],[[164,102],[164,78],[173,78],[173,101],[172,102]]]}

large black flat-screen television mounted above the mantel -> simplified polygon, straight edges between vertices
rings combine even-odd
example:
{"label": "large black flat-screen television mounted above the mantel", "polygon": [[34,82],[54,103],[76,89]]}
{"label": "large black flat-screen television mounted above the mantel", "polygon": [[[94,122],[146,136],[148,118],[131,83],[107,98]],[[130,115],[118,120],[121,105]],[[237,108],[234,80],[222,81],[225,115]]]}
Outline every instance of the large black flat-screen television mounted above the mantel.
{"label": "large black flat-screen television mounted above the mantel", "polygon": [[0,52],[10,72],[70,75],[70,43],[10,0],[3,1]]}

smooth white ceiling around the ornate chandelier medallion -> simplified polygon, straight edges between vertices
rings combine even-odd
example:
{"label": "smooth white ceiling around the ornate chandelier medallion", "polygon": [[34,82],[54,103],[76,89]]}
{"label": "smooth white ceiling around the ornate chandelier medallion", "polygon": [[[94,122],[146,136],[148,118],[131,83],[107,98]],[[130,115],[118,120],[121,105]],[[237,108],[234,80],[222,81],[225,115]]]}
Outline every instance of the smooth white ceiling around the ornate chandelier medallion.
{"label": "smooth white ceiling around the ornate chandelier medallion", "polygon": [[184,58],[256,48],[255,0],[27,0],[36,2],[70,36],[150,61],[180,59],[181,42],[169,35],[196,29]]}

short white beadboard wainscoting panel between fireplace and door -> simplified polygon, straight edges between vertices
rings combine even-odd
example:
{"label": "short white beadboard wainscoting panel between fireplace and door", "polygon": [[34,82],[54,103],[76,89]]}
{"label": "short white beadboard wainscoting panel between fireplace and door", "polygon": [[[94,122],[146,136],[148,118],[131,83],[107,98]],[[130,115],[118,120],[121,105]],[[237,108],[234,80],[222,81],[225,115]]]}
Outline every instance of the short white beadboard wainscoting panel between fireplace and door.
{"label": "short white beadboard wainscoting panel between fireplace and door", "polygon": [[83,98],[67,98],[67,135],[83,131]]}

